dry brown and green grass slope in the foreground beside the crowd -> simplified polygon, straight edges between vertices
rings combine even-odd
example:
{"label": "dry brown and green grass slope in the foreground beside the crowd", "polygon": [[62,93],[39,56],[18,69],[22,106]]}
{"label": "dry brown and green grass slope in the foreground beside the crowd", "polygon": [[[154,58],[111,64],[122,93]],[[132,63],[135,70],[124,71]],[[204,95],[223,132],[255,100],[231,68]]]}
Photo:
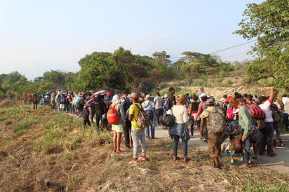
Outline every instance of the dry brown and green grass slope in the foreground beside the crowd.
{"label": "dry brown and green grass slope in the foreground beside the crowd", "polygon": [[[6,116],[7,110],[12,109],[0,113]],[[264,167],[239,170],[241,163],[231,165],[229,157],[221,158],[222,170],[212,169],[206,151],[194,146],[188,149],[189,163],[173,162],[170,139],[147,140],[148,159],[130,165],[133,149],[113,153],[111,132],[83,130],[81,119],[62,121],[57,111],[43,107],[13,110],[15,116],[7,116],[11,124],[0,121],[0,191],[250,191],[248,185],[258,189],[261,182],[265,191],[281,184],[288,190],[287,175]],[[13,125],[27,116],[37,117],[37,123],[12,137]],[[39,143],[51,141],[45,138],[48,130],[53,143],[39,149]]]}

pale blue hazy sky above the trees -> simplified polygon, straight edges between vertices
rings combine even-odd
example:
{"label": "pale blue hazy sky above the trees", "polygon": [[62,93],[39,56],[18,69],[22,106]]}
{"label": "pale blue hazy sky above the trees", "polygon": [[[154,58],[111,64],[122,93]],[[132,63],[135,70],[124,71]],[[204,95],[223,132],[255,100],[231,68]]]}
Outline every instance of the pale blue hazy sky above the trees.
{"label": "pale blue hazy sky above the trees", "polygon": [[80,70],[79,60],[119,47],[152,57],[166,51],[218,53],[222,61],[251,60],[240,29],[246,4],[261,0],[0,0],[0,74],[18,71],[29,80],[45,71]]}

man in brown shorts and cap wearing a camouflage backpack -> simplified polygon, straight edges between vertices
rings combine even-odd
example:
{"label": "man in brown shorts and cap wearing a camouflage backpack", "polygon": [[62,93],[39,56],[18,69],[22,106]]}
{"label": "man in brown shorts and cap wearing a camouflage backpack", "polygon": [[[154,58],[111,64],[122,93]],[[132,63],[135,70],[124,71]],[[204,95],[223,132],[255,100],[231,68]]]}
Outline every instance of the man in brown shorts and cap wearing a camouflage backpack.
{"label": "man in brown shorts and cap wearing a camouflage backpack", "polygon": [[222,132],[224,130],[224,113],[218,111],[214,100],[206,100],[207,108],[201,113],[200,139],[203,137],[205,123],[208,130],[208,152],[213,158],[213,167],[220,169],[219,156],[221,154]]}

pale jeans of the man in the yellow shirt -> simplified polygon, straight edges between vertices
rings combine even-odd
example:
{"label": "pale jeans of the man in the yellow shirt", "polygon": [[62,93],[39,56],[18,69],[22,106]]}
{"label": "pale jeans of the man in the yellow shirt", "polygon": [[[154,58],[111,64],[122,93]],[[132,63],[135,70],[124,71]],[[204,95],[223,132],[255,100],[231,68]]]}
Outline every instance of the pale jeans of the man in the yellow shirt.
{"label": "pale jeans of the man in the yellow shirt", "polygon": [[133,158],[138,157],[139,143],[142,146],[142,156],[145,156],[147,153],[147,145],[145,144],[145,129],[131,129],[131,137],[133,139]]}

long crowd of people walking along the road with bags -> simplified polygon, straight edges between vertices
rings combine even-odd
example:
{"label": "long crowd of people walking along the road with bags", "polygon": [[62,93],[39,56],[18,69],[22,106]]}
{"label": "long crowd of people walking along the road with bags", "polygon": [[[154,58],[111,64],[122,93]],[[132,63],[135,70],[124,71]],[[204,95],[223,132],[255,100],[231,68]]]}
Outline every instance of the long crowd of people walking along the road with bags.
{"label": "long crowd of people walking along the road with bags", "polygon": [[[274,147],[277,143],[283,146],[284,143],[278,132],[280,119],[276,118],[283,106],[283,123],[288,130],[289,99],[283,95],[282,104],[274,100],[274,89],[271,89],[269,96],[241,95],[238,92],[231,93],[232,96],[223,95],[220,100],[213,96],[206,95],[204,88],[193,95],[178,95],[175,97],[175,89],[170,87],[168,94],[161,97],[159,92],[156,95],[149,95],[147,92],[137,94],[128,93],[127,90],[119,94],[112,94],[107,91],[99,92],[67,92],[56,90],[46,92],[46,94],[23,95],[24,103],[33,104],[37,109],[38,105],[48,106],[60,112],[75,114],[83,118],[83,128],[95,123],[99,130],[109,130],[114,132],[113,143],[115,153],[121,151],[121,138],[124,135],[125,146],[130,149],[133,147],[133,160],[129,163],[137,163],[137,160],[146,160],[147,139],[155,139],[155,128],[161,126],[167,129],[173,139],[173,160],[177,160],[177,147],[179,140],[182,140],[182,151],[184,163],[189,161],[187,156],[187,143],[194,137],[194,128],[200,130],[200,139],[208,142],[208,152],[213,158],[213,167],[221,168],[219,157],[222,144],[222,130],[217,126],[235,122],[236,128],[241,132],[241,143],[244,153],[244,164],[241,168],[248,168],[252,163],[252,158],[256,159],[267,153],[273,157]],[[250,105],[260,107],[265,116],[263,119],[253,118],[249,113]],[[114,108],[118,121],[109,123],[107,121],[108,111]],[[149,122],[145,128],[137,124],[140,109],[146,111]],[[275,109],[277,113],[275,112]],[[274,111],[274,112],[273,112]],[[172,114],[175,123],[168,127],[161,125],[161,117],[164,113]],[[213,115],[212,115],[213,114]],[[110,116],[111,114],[109,114]],[[280,117],[280,116],[279,116]],[[94,122],[95,121],[95,122]],[[260,125],[262,123],[262,128]],[[223,129],[224,129],[223,126]],[[262,139],[253,140],[253,128],[260,128]],[[138,158],[139,144],[141,145],[142,155]],[[250,157],[250,148],[253,145],[254,155]]]}

